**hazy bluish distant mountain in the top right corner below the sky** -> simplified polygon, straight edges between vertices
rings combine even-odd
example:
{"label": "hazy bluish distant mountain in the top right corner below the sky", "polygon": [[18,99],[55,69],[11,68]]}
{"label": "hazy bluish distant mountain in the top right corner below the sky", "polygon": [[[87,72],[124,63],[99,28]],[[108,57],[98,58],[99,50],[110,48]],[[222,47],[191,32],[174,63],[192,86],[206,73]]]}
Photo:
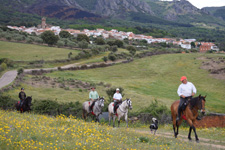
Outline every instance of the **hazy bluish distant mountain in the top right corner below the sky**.
{"label": "hazy bluish distant mountain in the top right corner below the sky", "polygon": [[225,6],[223,7],[204,7],[204,11],[208,11],[211,15],[225,20]]}

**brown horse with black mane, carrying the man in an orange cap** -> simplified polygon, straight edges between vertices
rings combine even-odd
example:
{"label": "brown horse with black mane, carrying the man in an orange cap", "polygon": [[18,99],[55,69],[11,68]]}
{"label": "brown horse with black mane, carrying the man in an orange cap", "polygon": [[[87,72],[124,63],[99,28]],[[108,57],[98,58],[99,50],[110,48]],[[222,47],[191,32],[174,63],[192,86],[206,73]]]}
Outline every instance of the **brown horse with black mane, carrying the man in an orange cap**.
{"label": "brown horse with black mane, carrying the man in an orange cap", "polygon": [[198,116],[198,110],[201,110],[203,115],[205,114],[205,98],[206,96],[199,95],[198,97],[194,97],[191,100],[189,100],[187,107],[185,108],[185,110],[183,110],[183,115],[181,115],[179,121],[176,121],[176,117],[178,114],[177,110],[180,101],[177,100],[171,105],[171,115],[173,120],[173,131],[175,138],[177,138],[178,135],[179,125],[182,123],[183,119],[185,119],[190,125],[188,139],[191,141],[191,131],[193,129],[195,133],[195,140],[197,143],[199,142],[194,123],[197,120],[196,118]]}

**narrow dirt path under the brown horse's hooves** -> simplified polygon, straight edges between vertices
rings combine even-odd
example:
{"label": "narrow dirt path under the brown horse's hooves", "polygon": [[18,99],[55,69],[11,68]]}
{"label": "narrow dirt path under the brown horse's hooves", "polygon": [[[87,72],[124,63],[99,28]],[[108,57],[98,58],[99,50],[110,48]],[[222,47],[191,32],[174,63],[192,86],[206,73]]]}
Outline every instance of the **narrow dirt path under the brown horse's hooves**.
{"label": "narrow dirt path under the brown horse's hooves", "polygon": [[[150,134],[150,131],[134,130],[134,132],[142,133],[142,134]],[[175,139],[173,134],[169,133],[169,132],[163,132],[163,133],[162,132],[156,132],[156,136]],[[189,140],[187,138],[187,135],[185,136],[185,135],[179,134],[178,137],[182,137],[182,138],[178,138],[177,140],[189,142]],[[194,139],[192,139],[192,140],[193,140],[192,142],[195,142]],[[211,144],[210,142],[213,142],[214,144]],[[200,143],[198,143],[198,144],[204,145],[204,146],[209,146],[209,147],[216,148],[216,149],[225,149],[225,146],[220,145],[219,143],[225,144],[225,141],[218,141],[218,140],[200,138]]]}

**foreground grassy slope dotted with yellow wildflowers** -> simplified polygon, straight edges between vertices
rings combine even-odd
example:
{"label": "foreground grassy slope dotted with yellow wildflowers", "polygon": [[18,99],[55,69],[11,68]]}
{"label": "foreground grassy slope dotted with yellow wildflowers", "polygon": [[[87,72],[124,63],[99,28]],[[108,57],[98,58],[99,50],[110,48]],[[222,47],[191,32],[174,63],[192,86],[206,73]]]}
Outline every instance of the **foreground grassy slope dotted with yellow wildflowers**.
{"label": "foreground grassy slope dotted with yellow wildflowers", "polygon": [[[0,118],[0,149],[212,149],[208,145],[173,137],[150,135],[147,127],[143,128],[145,132],[124,127],[112,128],[72,116],[55,118],[0,110]],[[161,129],[166,128],[160,127],[159,131]],[[187,130],[181,128],[181,131]],[[222,129],[215,128],[198,132],[199,137],[213,132],[218,132],[215,137],[220,139],[224,135]]]}

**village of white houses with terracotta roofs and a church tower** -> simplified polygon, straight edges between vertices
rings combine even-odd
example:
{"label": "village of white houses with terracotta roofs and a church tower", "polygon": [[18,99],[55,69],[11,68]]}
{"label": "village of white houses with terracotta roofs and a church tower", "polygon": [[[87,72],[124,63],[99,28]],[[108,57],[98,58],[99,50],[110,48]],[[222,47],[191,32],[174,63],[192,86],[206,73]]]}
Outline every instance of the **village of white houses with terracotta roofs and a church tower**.
{"label": "village of white houses with terracotta roofs and a church tower", "polygon": [[96,37],[103,37],[104,39],[108,38],[114,38],[118,40],[146,40],[148,44],[154,44],[154,43],[166,43],[166,44],[173,44],[173,45],[178,45],[181,48],[184,49],[192,49],[191,43],[194,43],[196,47],[199,47],[199,52],[206,52],[209,50],[213,50],[218,52],[219,48],[211,42],[198,42],[196,39],[182,39],[182,38],[154,38],[152,36],[146,36],[142,34],[134,34],[133,32],[123,32],[123,31],[118,31],[116,29],[112,29],[110,31],[107,31],[105,29],[96,29],[96,30],[75,30],[75,29],[62,29],[60,26],[52,26],[46,23],[46,18],[42,18],[42,22],[40,25],[37,27],[25,27],[25,26],[7,26],[10,29],[18,30],[21,32],[26,32],[26,33],[35,33],[36,35],[40,35],[45,31],[52,31],[54,32],[55,35],[59,35],[60,31],[68,31],[71,35],[74,37],[77,37],[78,34],[85,34],[87,36],[93,36],[94,38]]}

